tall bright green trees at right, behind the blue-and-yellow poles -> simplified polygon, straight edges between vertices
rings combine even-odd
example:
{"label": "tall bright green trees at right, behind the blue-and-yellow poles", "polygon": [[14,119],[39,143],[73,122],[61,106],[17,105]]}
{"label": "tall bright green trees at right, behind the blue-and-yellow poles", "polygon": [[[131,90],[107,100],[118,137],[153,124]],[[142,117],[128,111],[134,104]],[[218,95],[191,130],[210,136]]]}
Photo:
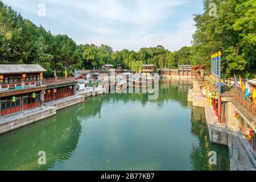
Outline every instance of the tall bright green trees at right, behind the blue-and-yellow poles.
{"label": "tall bright green trees at right, behind the blue-and-yellow poles", "polygon": [[[217,5],[217,17],[210,17],[210,3]],[[207,64],[210,55],[221,51],[222,73],[250,76],[256,71],[256,1],[204,1],[204,13],[195,15],[192,62]]]}

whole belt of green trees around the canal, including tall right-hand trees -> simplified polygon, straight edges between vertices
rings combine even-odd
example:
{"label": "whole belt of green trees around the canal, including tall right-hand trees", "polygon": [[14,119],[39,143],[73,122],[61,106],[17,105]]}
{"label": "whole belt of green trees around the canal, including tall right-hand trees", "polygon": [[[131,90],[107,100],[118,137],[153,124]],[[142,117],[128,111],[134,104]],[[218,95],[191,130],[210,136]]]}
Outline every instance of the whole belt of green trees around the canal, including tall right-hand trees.
{"label": "whole belt of green trees around the canal, including tall right-hand trees", "polygon": [[[208,14],[212,2],[217,5],[217,17]],[[210,55],[220,50],[225,77],[255,73],[255,0],[205,0],[204,13],[195,15],[194,20],[197,30],[191,47],[175,52],[163,46],[141,48],[138,52],[113,51],[106,45],[77,45],[67,35],[52,35],[0,1],[0,63],[37,63],[47,69],[47,77],[53,76],[54,69],[64,75],[64,69],[98,68],[103,64],[122,64],[122,68],[138,72],[142,64],[155,64],[156,68],[201,64],[209,70]]]}

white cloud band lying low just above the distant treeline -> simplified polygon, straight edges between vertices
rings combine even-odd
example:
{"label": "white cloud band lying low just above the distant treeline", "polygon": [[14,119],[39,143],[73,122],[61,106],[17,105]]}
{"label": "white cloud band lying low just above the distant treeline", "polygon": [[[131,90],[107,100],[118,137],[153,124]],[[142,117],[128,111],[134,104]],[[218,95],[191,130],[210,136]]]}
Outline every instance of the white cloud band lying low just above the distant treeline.
{"label": "white cloud band lying low just above the distant treeline", "polygon": [[148,34],[141,30],[130,32],[122,38],[115,36],[96,36],[78,41],[79,43],[94,43],[96,45],[108,44],[114,50],[127,48],[138,51],[142,47],[155,47],[162,45],[170,51],[175,51],[183,46],[191,46],[192,35],[195,32],[194,22],[190,19],[185,19],[178,24],[178,28],[174,32],[162,33],[154,32]]}

